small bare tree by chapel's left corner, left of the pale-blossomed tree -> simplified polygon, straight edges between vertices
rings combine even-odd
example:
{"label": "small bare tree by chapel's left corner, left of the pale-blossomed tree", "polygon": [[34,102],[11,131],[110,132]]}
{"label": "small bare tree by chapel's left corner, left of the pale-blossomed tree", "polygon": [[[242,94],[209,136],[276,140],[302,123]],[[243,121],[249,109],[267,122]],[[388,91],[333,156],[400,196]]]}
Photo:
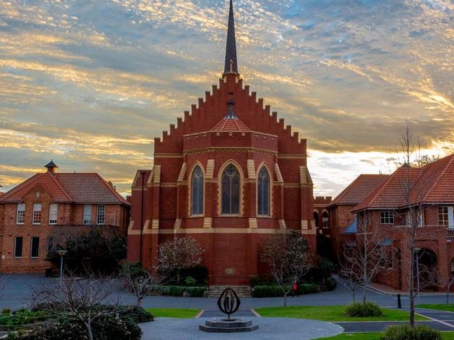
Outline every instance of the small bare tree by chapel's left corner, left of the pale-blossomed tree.
{"label": "small bare tree by chapel's left corner, left of the pale-blossomed tree", "polygon": [[162,285],[168,280],[168,276],[162,274],[159,269],[151,271],[136,267],[131,263],[125,263],[120,272],[120,277],[126,281],[129,292],[136,296],[136,306],[140,307],[142,300],[151,295],[156,286]]}

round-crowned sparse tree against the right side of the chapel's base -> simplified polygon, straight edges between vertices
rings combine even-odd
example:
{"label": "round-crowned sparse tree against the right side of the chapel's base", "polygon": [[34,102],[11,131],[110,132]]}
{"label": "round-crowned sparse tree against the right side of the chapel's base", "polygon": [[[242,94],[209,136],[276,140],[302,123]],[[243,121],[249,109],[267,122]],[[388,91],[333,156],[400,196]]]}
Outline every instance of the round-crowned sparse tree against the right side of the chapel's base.
{"label": "round-crowned sparse tree against the right side of the chapel's base", "polygon": [[263,244],[262,260],[270,269],[272,278],[287,295],[293,285],[314,266],[314,258],[307,246],[307,240],[298,232],[284,232],[270,237]]}

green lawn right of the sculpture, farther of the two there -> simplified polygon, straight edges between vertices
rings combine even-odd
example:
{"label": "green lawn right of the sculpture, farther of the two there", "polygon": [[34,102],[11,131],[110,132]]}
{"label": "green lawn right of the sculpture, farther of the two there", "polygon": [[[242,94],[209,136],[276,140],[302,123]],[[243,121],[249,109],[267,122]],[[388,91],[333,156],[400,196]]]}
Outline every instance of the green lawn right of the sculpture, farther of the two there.
{"label": "green lawn right of the sculpture, farther of the two there", "polygon": [[[261,316],[280,318],[302,318],[323,321],[407,321],[407,311],[383,308],[383,316],[367,318],[351,318],[344,316],[343,306],[292,306],[292,307],[265,307],[256,312]],[[415,316],[415,320],[428,320],[423,316]],[[350,338],[349,338],[350,339]]]}

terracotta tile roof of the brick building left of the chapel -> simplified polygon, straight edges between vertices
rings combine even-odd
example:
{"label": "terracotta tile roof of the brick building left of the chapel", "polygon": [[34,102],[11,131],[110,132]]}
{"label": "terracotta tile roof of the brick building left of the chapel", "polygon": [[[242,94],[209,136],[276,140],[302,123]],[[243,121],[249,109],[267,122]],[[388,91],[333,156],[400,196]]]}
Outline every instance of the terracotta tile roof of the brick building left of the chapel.
{"label": "terracotta tile roof of the brick building left of the chapel", "polygon": [[49,172],[36,174],[0,197],[0,202],[22,202],[36,185],[41,185],[52,196],[53,202],[78,203],[123,203],[129,205],[122,195],[96,173],[61,173],[52,176]]}

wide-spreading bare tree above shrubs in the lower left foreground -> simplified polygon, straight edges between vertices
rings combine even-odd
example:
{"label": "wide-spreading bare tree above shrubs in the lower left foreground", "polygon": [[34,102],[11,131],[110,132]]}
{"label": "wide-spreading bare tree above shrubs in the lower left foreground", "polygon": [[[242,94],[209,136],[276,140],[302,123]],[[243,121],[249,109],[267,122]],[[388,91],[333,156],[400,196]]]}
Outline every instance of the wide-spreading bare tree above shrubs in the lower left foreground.
{"label": "wide-spreading bare tree above shrubs in the lower left foreground", "polygon": [[[81,323],[89,340],[93,340],[91,325],[102,316],[124,311],[119,298],[110,299],[114,281],[110,277],[90,276],[79,279],[73,275],[64,276],[61,284],[53,281],[33,291],[31,306],[38,307],[48,315],[67,318]],[[108,303],[101,306],[101,303]]]}

